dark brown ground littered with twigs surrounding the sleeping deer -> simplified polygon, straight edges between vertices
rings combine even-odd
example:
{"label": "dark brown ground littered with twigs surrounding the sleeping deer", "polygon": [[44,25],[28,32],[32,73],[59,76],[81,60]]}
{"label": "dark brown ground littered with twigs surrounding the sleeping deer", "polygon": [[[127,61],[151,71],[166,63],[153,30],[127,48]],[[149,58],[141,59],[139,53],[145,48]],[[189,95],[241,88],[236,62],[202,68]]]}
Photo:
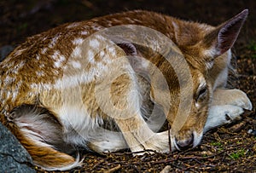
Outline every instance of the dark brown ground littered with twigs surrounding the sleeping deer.
{"label": "dark brown ground littered with twigs surrounding the sleeping deer", "polygon": [[[230,19],[242,9],[249,17],[233,52],[236,73],[230,74],[231,88],[247,93],[253,111],[229,127],[212,130],[199,147],[170,154],[155,153],[132,157],[131,153],[99,156],[84,153],[82,168],[72,172],[160,172],[166,165],[172,172],[256,172],[256,2],[254,0],[0,0],[0,48],[16,46],[26,37],[62,23],[87,20],[130,9],[148,9],[214,26]],[[251,133],[248,133],[251,132]],[[44,172],[35,168],[38,172]]]}

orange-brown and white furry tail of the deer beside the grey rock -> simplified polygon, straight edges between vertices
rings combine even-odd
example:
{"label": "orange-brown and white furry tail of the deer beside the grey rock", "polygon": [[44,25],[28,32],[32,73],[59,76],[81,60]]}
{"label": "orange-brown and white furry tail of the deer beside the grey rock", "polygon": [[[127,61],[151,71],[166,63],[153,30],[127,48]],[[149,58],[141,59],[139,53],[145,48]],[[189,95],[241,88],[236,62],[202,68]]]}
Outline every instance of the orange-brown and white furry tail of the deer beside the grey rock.
{"label": "orange-brown and white furry tail of the deer beside the grey rock", "polygon": [[7,118],[9,123],[15,124],[11,131],[30,153],[34,164],[45,170],[70,170],[80,166],[79,155],[74,159],[61,152],[62,149],[68,151],[67,147],[73,150],[73,147],[65,145],[63,127],[53,112],[44,107],[22,105],[15,107]]}

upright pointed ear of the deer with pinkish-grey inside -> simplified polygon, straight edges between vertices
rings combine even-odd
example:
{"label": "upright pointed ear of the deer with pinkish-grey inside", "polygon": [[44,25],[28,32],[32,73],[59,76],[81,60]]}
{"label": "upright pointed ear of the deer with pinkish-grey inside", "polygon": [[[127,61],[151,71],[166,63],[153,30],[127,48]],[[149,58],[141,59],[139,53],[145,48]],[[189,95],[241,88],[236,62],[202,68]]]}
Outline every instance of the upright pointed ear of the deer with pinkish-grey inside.
{"label": "upright pointed ear of the deer with pinkish-grey inside", "polygon": [[236,42],[247,15],[248,10],[244,9],[240,14],[207,33],[201,42],[202,46],[207,50],[206,52],[210,53],[214,58],[228,51]]}

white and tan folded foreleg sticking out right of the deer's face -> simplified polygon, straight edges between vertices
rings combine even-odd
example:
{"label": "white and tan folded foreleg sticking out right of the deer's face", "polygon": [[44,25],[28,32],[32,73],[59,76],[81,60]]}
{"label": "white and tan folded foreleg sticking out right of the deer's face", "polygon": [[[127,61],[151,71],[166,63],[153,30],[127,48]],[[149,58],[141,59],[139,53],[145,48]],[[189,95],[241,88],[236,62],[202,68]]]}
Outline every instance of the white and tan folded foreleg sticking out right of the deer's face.
{"label": "white and tan folded foreleg sticking out right of the deer's face", "polygon": [[252,110],[252,108],[251,101],[241,90],[216,89],[213,93],[204,132],[241,119],[244,109]]}

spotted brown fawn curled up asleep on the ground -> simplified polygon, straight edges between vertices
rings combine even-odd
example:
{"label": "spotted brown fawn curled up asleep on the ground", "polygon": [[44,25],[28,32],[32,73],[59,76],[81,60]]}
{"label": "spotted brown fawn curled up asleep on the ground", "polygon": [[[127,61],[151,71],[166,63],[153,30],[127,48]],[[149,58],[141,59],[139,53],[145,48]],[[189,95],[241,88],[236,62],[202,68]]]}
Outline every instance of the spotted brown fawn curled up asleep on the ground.
{"label": "spotted brown fawn curled up asleep on the ground", "polygon": [[133,10],[28,37],[0,62],[0,121],[45,170],[80,166],[81,147],[196,147],[252,110],[246,93],[226,88],[247,14],[210,26]]}

